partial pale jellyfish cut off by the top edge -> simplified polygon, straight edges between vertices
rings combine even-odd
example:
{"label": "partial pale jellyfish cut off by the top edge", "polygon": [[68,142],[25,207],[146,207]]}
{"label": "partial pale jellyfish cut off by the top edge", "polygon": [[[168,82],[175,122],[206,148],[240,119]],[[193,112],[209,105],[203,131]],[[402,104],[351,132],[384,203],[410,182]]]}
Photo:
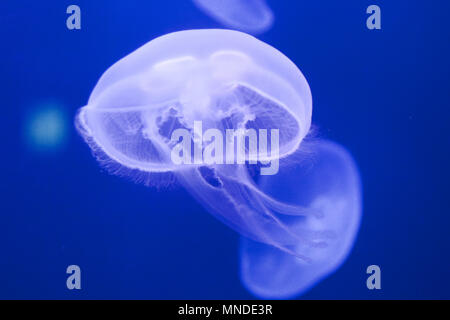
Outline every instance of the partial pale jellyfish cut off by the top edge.
{"label": "partial pale jellyfish cut off by the top edge", "polygon": [[210,17],[224,26],[251,34],[269,30],[274,21],[266,0],[193,0]]}

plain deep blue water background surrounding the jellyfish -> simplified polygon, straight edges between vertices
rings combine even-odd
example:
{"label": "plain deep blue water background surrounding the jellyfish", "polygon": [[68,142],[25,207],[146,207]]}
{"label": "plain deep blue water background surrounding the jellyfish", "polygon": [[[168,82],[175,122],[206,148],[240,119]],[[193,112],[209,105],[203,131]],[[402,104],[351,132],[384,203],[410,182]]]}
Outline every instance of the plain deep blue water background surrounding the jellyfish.
{"label": "plain deep blue water background surrounding the jellyfish", "polygon": [[[450,2],[269,1],[259,38],[308,79],[321,136],[362,175],[364,213],[345,264],[300,298],[450,298]],[[77,4],[82,29],[66,28]],[[382,30],[365,27],[378,4]],[[69,125],[58,152],[30,150],[27,112],[60,103],[72,119],[101,74],[168,32],[220,27],[190,0],[0,4],[0,298],[247,299],[238,235],[184,190],[104,172]],[[82,290],[66,289],[66,267]],[[366,288],[380,265],[382,290]]]}

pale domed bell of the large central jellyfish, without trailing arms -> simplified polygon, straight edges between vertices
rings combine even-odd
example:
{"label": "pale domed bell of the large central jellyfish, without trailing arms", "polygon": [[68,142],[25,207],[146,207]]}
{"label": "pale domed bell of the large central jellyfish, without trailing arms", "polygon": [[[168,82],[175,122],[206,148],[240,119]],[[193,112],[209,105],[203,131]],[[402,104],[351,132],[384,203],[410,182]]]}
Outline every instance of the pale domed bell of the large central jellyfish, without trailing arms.
{"label": "pale domed bell of the large central jellyfish, without trailing arms", "polygon": [[[239,31],[187,30],[156,38],[110,67],[77,116],[91,146],[128,168],[176,171],[176,128],[279,129],[279,157],[308,133],[312,99],[296,65]],[[230,122],[230,121],[228,121]]]}

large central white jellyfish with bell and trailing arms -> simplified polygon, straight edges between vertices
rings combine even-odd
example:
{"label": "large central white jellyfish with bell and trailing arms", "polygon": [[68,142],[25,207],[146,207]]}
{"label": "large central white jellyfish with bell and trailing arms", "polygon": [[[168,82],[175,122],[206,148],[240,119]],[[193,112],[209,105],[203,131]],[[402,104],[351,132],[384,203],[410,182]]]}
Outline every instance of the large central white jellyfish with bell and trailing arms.
{"label": "large central white jellyfish with bell and trailing arms", "polygon": [[[308,83],[281,52],[238,31],[189,30],[152,40],[109,68],[77,127],[112,172],[149,185],[176,179],[241,235],[314,263],[324,252],[340,254],[323,249],[336,247],[328,235],[341,231],[325,217],[328,207],[277,199],[249,171],[276,173],[280,159],[302,149],[311,114]],[[242,141],[235,131],[245,133]],[[289,217],[311,225],[299,229]]]}

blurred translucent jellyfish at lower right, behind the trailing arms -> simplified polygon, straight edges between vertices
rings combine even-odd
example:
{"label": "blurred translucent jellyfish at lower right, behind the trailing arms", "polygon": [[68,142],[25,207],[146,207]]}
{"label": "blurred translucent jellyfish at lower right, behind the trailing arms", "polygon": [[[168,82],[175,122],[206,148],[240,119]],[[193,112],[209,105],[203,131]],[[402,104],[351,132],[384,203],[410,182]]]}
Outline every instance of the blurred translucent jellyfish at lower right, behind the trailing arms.
{"label": "blurred translucent jellyfish at lower right, behind the trailing arms", "polygon": [[280,219],[299,235],[323,239],[326,246],[295,244],[293,251],[310,258],[305,261],[242,238],[241,279],[259,297],[289,298],[309,289],[342,264],[359,228],[360,178],[353,159],[343,147],[329,141],[320,141],[309,149],[309,160],[278,175],[261,177],[259,186],[283,203],[321,211],[320,218]]}

